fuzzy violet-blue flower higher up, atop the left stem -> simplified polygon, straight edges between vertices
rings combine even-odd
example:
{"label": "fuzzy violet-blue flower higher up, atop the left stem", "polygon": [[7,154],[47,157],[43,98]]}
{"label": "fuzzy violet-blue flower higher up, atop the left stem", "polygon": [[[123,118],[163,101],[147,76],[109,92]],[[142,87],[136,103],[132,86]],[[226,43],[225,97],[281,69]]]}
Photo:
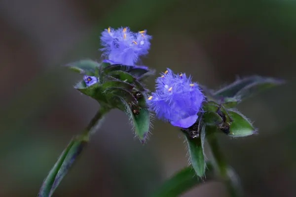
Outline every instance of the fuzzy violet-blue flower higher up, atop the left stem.
{"label": "fuzzy violet-blue flower higher up, atop the left stem", "polygon": [[102,32],[103,56],[110,64],[135,66],[139,57],[148,54],[151,36],[145,31],[133,33],[129,28],[108,28]]}

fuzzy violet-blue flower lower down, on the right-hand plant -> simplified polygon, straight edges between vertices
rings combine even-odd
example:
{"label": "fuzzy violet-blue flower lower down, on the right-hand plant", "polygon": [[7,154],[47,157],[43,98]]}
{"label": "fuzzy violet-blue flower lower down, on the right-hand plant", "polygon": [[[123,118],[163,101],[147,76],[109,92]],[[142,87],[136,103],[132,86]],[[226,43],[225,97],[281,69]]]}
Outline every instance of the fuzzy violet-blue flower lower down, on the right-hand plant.
{"label": "fuzzy violet-blue flower lower down, on the right-hand plant", "polygon": [[192,83],[185,73],[174,74],[169,68],[155,82],[156,91],[147,100],[149,108],[173,126],[192,126],[205,99],[198,84]]}

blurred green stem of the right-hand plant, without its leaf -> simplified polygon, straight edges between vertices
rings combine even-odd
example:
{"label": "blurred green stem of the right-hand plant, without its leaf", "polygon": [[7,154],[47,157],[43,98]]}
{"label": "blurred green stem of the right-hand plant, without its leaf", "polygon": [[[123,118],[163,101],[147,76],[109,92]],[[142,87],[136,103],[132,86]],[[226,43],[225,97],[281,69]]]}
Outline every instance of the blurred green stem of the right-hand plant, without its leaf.
{"label": "blurred green stem of the right-hand plant, without its leaf", "polygon": [[219,147],[215,133],[208,136],[208,143],[214,157],[214,167],[226,184],[230,197],[242,197],[242,189],[235,172],[230,168]]}

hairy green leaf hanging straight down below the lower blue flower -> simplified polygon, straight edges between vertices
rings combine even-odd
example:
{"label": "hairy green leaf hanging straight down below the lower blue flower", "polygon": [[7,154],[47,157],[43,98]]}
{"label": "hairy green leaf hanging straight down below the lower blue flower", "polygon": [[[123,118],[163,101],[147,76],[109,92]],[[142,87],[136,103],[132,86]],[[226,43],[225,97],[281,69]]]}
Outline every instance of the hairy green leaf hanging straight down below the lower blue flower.
{"label": "hairy green leaf hanging straight down below the lower blue flower", "polygon": [[203,177],[206,170],[206,161],[204,154],[204,140],[205,140],[205,125],[202,126],[200,136],[191,139],[189,135],[185,134],[185,139],[188,145],[189,159],[195,173],[199,177]]}

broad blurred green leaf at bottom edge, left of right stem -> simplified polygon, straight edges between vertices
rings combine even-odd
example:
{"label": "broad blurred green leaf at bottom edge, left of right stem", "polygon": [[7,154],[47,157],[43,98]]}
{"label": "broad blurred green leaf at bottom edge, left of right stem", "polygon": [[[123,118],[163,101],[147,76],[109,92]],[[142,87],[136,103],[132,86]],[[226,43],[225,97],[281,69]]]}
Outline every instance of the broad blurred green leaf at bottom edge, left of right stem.
{"label": "broad blurred green leaf at bottom edge, left of right stem", "polygon": [[[214,170],[209,163],[205,175],[208,181],[214,179]],[[196,176],[193,167],[190,165],[166,180],[151,197],[179,197],[202,183],[204,181]]]}

